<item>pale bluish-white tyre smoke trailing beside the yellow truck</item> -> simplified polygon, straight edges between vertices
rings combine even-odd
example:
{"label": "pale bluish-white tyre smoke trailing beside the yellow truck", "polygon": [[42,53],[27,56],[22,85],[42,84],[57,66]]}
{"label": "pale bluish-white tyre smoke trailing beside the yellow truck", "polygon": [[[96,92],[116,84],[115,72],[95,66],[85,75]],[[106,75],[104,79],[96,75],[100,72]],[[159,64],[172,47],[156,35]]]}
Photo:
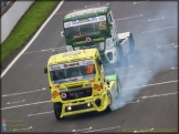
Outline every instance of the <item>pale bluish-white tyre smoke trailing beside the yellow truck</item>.
{"label": "pale bluish-white tyre smoke trailing beside the yellow truck", "polygon": [[[160,12],[160,9],[158,10],[159,12],[158,14],[156,12],[157,14],[156,17],[162,17],[164,12],[162,11]],[[171,10],[165,9],[165,11],[171,11]],[[172,13],[170,12],[170,14]],[[165,22],[169,21],[166,23],[170,23],[170,21],[176,21],[175,23],[177,23],[176,13],[173,14],[172,18],[176,19],[172,20],[166,19],[164,21]],[[156,22],[155,24],[149,23],[148,28],[145,28],[144,31],[157,29],[159,27],[157,24],[159,23]],[[113,103],[114,110],[123,107],[127,103],[131,102],[134,97],[140,92],[140,90],[145,89],[145,87],[135,87],[135,86],[146,85],[158,73],[165,72],[167,70],[171,70],[171,68],[176,68],[176,66],[178,68],[178,56],[177,56],[178,44],[177,44],[177,39],[175,39],[178,38],[177,29],[178,28],[176,27],[170,30],[162,30],[159,32],[157,31],[158,34],[157,32],[148,32],[145,34],[138,33],[143,37],[138,38],[137,40],[135,39],[135,34],[134,34],[136,47],[138,48],[141,47],[141,48],[140,49],[136,48],[135,53],[125,59],[127,65],[133,64],[134,68],[133,69],[126,68],[125,70],[118,70],[117,72],[122,83],[122,94],[118,95],[115,102]],[[151,72],[144,73],[147,71],[151,71]],[[136,74],[133,76],[123,76],[133,73],[143,73],[143,74]]]}

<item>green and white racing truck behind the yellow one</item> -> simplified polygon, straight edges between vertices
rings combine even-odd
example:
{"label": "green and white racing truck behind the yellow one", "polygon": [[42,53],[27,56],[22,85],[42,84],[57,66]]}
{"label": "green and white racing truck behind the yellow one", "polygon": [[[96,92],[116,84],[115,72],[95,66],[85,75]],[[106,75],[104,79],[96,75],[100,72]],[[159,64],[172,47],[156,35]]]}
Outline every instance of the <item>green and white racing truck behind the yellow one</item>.
{"label": "green and white racing truck behind the yellow one", "polygon": [[77,10],[63,19],[63,31],[67,51],[97,48],[103,63],[118,63],[134,52],[131,32],[117,33],[109,7]]}

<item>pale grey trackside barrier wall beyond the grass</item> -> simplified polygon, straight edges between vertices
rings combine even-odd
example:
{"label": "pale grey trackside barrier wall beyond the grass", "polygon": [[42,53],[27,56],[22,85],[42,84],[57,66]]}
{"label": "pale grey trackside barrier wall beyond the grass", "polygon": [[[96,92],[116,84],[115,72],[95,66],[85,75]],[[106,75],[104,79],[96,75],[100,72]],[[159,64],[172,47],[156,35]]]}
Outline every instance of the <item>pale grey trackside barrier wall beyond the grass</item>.
{"label": "pale grey trackside barrier wall beyond the grass", "polygon": [[15,1],[1,17],[1,43],[8,38],[14,25],[33,2],[34,0]]}

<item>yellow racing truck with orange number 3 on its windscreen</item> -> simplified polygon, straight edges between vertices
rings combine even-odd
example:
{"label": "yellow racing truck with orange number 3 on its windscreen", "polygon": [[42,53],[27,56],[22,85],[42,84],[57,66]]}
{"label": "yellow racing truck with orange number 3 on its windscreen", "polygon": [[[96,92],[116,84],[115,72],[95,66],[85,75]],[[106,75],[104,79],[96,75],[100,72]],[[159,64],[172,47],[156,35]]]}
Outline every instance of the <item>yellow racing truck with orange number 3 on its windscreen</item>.
{"label": "yellow racing truck with orange number 3 on its windscreen", "polygon": [[96,48],[51,55],[48,73],[56,120],[86,112],[113,111],[122,92],[117,74],[105,75]]}

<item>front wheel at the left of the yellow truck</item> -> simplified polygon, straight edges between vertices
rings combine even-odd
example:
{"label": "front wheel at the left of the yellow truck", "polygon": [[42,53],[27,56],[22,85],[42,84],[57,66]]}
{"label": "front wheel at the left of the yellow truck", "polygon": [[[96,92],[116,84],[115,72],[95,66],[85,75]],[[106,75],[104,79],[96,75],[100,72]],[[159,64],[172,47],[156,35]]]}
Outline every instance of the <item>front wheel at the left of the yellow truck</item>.
{"label": "front wheel at the left of the yellow truck", "polygon": [[62,113],[62,104],[61,103],[53,103],[53,110],[54,110],[54,115],[57,121],[61,120],[61,113]]}

